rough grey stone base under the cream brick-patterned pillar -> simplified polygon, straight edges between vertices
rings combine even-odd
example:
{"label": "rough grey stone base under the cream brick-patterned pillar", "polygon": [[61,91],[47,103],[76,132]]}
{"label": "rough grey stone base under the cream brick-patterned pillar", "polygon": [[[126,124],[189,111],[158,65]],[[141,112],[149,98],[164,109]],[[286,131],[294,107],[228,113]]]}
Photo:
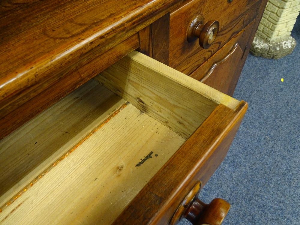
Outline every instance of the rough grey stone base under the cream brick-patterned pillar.
{"label": "rough grey stone base under the cream brick-patterned pillar", "polygon": [[256,35],[252,43],[250,52],[255,56],[279,59],[291,54],[295,46],[296,41],[291,36],[267,41]]}

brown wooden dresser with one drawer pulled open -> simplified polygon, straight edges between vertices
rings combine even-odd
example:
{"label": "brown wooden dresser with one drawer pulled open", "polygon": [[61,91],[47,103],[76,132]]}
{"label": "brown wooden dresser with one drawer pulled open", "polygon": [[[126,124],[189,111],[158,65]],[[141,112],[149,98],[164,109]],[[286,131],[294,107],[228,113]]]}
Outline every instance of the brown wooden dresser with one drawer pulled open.
{"label": "brown wooden dresser with one drawer pulled open", "polygon": [[0,224],[220,224],[266,3],[1,1]]}

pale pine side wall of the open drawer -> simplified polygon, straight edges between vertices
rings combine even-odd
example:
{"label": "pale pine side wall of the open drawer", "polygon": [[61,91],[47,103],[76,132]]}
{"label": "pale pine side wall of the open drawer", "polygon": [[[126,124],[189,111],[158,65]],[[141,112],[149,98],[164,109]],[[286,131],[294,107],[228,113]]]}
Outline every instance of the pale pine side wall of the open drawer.
{"label": "pale pine side wall of the open drawer", "polygon": [[136,51],[94,79],[186,139],[217,105],[239,103]]}

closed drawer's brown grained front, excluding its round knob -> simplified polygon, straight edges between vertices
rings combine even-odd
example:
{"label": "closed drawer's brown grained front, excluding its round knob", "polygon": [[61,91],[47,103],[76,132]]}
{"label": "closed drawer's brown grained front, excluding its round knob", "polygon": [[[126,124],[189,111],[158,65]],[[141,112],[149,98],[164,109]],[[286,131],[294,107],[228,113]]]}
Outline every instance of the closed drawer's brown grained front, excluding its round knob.
{"label": "closed drawer's brown grained front, excluding its round knob", "polygon": [[[246,27],[257,14],[261,1],[193,0],[170,14],[169,65],[185,74],[193,72],[238,32]],[[208,49],[199,46],[198,39],[187,41],[187,31],[196,16],[203,24],[218,21],[219,31]],[[244,50],[244,49],[243,49]]]}

